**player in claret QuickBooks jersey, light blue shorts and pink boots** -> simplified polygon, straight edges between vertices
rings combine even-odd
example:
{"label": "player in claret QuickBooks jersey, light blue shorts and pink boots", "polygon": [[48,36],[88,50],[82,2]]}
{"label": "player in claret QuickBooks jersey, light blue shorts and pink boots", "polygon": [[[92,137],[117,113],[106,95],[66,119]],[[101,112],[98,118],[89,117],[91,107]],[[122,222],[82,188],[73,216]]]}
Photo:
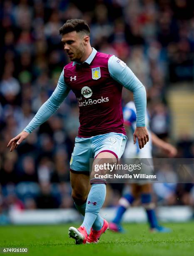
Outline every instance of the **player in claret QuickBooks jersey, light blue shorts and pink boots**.
{"label": "player in claret QuickBooks jersey, light blue shorts and pink boots", "polygon": [[137,111],[134,142],[137,138],[139,148],[143,148],[149,141],[145,126],[146,90],[123,61],[91,47],[90,28],[84,20],[67,20],[60,34],[72,62],[64,67],[51,97],[7,146],[11,145],[10,151],[14,150],[55,113],[70,90],[75,93],[80,108],[80,128],[70,161],[70,180],[75,206],[85,217],[80,228],[69,228],[69,235],[76,243],[97,243],[108,228],[107,221],[99,215],[106,196],[106,180],[95,179],[94,168],[89,176],[90,158],[94,158],[93,166],[99,159],[112,164],[124,152],[127,136],[121,105],[123,86],[134,95]]}

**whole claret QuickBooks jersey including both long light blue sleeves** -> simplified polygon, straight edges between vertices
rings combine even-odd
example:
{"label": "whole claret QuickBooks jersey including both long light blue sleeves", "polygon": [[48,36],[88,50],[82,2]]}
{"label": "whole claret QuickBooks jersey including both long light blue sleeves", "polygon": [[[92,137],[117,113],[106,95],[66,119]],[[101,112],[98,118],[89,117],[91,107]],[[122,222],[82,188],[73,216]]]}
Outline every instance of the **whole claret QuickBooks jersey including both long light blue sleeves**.
{"label": "whole claret QuickBooks jersey including both long light blue sleeves", "polygon": [[71,62],[64,67],[55,91],[24,130],[31,133],[45,122],[72,90],[80,108],[79,137],[109,132],[125,134],[122,86],[133,92],[137,126],[145,126],[146,91],[143,84],[123,61],[93,48],[84,63]]}

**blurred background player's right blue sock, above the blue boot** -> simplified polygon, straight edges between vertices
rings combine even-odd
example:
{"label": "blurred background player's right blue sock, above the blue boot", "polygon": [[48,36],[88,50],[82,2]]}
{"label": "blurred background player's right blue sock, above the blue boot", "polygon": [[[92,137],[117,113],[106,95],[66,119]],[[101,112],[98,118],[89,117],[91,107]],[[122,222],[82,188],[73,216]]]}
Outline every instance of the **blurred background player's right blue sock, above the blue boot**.
{"label": "blurred background player's right blue sock, above the blue boot", "polygon": [[156,228],[158,226],[158,221],[157,221],[156,212],[154,210],[154,203],[152,203],[152,195],[142,194],[141,201],[142,201],[142,205],[146,210],[147,219],[148,219],[150,228]]}

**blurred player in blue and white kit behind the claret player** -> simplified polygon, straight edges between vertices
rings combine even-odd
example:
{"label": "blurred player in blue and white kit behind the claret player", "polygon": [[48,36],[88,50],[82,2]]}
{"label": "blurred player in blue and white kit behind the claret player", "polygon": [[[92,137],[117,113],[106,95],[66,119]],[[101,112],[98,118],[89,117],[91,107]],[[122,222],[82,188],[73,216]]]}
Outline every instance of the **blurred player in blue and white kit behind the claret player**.
{"label": "blurred player in blue and white kit behind the claret player", "polygon": [[[177,149],[169,143],[162,141],[149,129],[149,113],[146,111],[146,126],[149,133],[149,142],[139,150],[139,146],[136,143],[133,145],[132,134],[136,126],[136,110],[133,101],[127,103],[123,110],[124,124],[129,128],[129,141],[127,142],[126,150],[124,151],[124,158],[152,158],[152,144],[161,148],[169,157],[174,157],[177,154]],[[151,170],[150,170],[151,171]],[[149,222],[150,230],[152,232],[170,232],[169,228],[159,226],[157,216],[155,213],[154,203],[152,202],[152,184],[147,181],[141,181],[141,183],[134,183],[131,185],[131,192],[124,195],[119,200],[119,206],[117,208],[114,220],[109,223],[109,229],[115,232],[123,232],[123,228],[120,225],[122,216],[134,200],[141,196],[141,203],[146,210],[147,220]]]}

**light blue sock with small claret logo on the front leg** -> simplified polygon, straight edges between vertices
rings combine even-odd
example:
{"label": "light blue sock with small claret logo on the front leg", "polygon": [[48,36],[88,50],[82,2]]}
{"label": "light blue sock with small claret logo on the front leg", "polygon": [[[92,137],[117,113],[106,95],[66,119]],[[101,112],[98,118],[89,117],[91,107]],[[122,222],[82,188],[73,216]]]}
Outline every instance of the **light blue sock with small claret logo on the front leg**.
{"label": "light blue sock with small claret logo on the front leg", "polygon": [[[106,197],[106,185],[105,184],[92,184],[90,193],[87,197],[85,217],[82,223],[82,227],[86,228],[88,234],[90,234],[90,229],[94,224],[99,210],[102,207]],[[103,224],[102,224],[103,225]]]}

